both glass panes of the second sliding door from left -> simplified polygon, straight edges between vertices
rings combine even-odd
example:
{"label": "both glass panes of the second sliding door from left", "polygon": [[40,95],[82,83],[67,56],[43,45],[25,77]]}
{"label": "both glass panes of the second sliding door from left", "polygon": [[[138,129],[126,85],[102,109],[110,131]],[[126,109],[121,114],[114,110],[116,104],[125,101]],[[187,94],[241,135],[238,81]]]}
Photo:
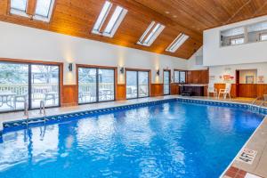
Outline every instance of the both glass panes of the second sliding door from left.
{"label": "both glass panes of the second sliding door from left", "polygon": [[78,68],[78,102],[114,101],[115,70]]}

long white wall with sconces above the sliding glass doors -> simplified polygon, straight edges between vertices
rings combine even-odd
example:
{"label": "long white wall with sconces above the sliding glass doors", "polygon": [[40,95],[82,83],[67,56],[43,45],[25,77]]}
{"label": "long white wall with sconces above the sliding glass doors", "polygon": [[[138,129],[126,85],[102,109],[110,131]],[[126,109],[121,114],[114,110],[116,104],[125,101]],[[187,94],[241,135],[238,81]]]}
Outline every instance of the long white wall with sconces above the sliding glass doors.
{"label": "long white wall with sconces above the sliding glass doors", "polygon": [[118,67],[119,84],[125,82],[120,67],[151,69],[152,83],[162,82],[157,69],[187,69],[183,59],[6,22],[0,22],[0,58],[64,62],[64,85],[76,84],[76,71],[69,72],[69,62]]}

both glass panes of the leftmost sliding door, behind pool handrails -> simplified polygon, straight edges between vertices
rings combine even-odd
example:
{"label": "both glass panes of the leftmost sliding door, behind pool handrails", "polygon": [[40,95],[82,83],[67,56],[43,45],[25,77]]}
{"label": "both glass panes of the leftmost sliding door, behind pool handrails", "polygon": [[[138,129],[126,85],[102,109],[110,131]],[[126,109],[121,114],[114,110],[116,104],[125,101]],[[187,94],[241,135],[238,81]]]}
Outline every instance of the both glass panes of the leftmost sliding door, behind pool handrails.
{"label": "both glass panes of the leftmost sliding door, behind pool handrails", "polygon": [[60,106],[60,66],[0,63],[0,112]]}

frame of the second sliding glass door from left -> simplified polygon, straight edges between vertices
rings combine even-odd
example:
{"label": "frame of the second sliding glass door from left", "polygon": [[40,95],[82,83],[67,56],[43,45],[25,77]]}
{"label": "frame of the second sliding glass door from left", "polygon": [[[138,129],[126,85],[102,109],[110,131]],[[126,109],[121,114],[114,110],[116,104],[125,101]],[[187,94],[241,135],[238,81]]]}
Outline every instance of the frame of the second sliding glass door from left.
{"label": "frame of the second sliding glass door from left", "polygon": [[[93,102],[79,102],[79,68],[84,69],[96,69],[96,101]],[[117,67],[110,67],[110,66],[94,66],[94,65],[87,65],[87,64],[76,64],[76,81],[77,81],[77,104],[84,105],[84,104],[93,104],[93,103],[101,103],[101,102],[109,102],[109,101],[100,101],[99,100],[99,69],[113,69],[114,70],[114,99],[109,101],[116,101],[116,92],[117,92]]]}

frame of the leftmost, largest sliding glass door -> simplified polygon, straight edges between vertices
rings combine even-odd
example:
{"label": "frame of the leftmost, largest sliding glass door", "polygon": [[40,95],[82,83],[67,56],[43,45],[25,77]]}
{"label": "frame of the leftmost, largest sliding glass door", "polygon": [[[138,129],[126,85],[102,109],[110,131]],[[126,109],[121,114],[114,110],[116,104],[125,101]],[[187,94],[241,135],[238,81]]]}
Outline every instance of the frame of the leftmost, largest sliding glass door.
{"label": "frame of the leftmost, largest sliding glass door", "polygon": [[[28,110],[35,110],[39,108],[32,108],[31,104],[31,89],[32,89],[32,82],[31,82],[31,66],[32,65],[47,65],[47,66],[58,66],[59,67],[59,104],[56,106],[49,106],[45,107],[47,109],[50,108],[59,108],[61,107],[61,93],[63,88],[63,63],[62,62],[53,62],[53,61],[28,61],[28,60],[18,60],[18,59],[6,59],[0,58],[0,63],[12,63],[12,64],[24,64],[28,65]],[[4,110],[0,111],[0,113],[8,113],[8,112],[17,112],[23,111],[24,109],[12,109],[12,110]]]}

